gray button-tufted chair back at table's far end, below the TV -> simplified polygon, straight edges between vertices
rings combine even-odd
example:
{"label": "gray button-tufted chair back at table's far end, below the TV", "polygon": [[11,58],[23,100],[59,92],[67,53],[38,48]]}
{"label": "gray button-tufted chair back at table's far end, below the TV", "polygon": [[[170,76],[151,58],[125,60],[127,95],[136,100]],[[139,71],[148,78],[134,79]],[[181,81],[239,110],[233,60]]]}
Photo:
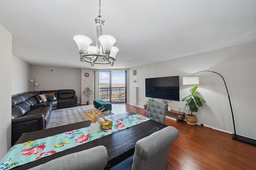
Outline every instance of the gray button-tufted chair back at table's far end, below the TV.
{"label": "gray button-tufted chair back at table's far end, below the TV", "polygon": [[164,124],[167,107],[167,104],[149,101],[146,117]]}

